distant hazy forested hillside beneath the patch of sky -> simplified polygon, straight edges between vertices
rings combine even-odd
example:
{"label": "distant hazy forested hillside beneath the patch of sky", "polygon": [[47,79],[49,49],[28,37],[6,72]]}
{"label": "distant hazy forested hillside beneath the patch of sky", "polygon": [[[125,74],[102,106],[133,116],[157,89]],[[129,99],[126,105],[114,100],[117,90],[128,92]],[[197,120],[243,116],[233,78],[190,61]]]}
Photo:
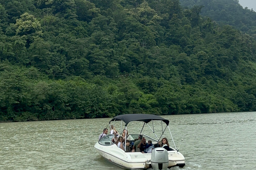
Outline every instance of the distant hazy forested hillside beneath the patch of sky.
{"label": "distant hazy forested hillside beneath the patch of sky", "polygon": [[[194,5],[201,9],[201,15],[210,17],[220,25],[231,25],[256,40],[256,9],[248,9],[239,0],[180,0],[181,6],[191,9]],[[256,3],[256,1],[255,1]]]}

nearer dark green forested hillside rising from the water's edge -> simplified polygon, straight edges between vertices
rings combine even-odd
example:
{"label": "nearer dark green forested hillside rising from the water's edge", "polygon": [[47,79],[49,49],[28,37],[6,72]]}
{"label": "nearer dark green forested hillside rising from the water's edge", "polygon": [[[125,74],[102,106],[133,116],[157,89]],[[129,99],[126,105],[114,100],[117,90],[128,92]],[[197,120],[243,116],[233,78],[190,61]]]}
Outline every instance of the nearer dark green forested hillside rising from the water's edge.
{"label": "nearer dark green forested hillside rising from the water's edge", "polygon": [[255,111],[255,40],[200,10],[0,0],[0,121]]}

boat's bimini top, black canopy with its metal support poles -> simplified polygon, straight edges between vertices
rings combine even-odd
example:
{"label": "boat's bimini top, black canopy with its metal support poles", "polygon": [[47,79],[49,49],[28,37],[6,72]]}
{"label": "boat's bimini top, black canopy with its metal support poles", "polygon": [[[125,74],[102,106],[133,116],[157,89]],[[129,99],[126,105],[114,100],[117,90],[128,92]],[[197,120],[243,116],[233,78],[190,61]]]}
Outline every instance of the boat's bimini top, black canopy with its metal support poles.
{"label": "boat's bimini top, black canopy with its metal support poles", "polygon": [[[143,134],[143,135],[144,135],[144,136],[147,136],[147,137],[149,137],[149,138],[151,138],[151,139],[153,139],[153,140],[155,140],[155,141],[157,141],[157,142],[159,142],[159,139],[162,137],[162,135],[163,135],[163,133],[164,133],[164,131],[166,130],[167,127],[168,127],[169,132],[170,132],[171,137],[172,137],[172,133],[171,133],[170,128],[169,128],[169,126],[168,126],[168,125],[169,125],[169,121],[168,121],[167,119],[164,119],[164,118],[162,118],[162,117],[160,117],[160,116],[157,116],[157,115],[149,115],[149,114],[126,114],[126,115],[118,115],[118,116],[114,117],[111,121],[109,121],[109,126],[110,126],[110,129],[111,129],[111,130],[112,130],[112,128],[111,128],[110,123],[111,123],[111,122],[114,122],[114,126],[115,126],[115,121],[122,121],[122,122],[121,122],[121,130],[122,130],[122,123],[124,122],[124,123],[125,123],[125,130],[126,130],[126,131],[127,131],[127,125],[128,125],[129,122],[132,122],[132,121],[141,121],[141,122],[144,122],[144,125],[143,125],[143,127],[142,127],[140,133],[142,132],[142,130],[143,130],[145,124],[147,124],[147,126],[148,126],[148,127],[153,131],[153,133],[155,134],[157,140],[156,140],[156,139],[153,139],[153,138],[151,138],[151,137],[149,137],[149,136],[147,136],[147,135],[145,135],[145,134]],[[153,129],[148,125],[148,123],[151,122],[151,121],[152,121],[152,127],[153,127]],[[153,121],[161,121],[161,125],[162,125],[162,135],[161,135],[159,138],[157,137],[157,135],[156,135],[156,133],[155,133],[155,131],[154,131],[154,124],[153,124]],[[166,127],[165,127],[164,129],[163,129],[163,122],[166,124]],[[125,133],[126,133],[126,132],[125,132]],[[125,134],[125,136],[126,136],[126,134]],[[114,137],[114,134],[113,134],[113,137]],[[126,137],[125,137],[125,141],[126,141]],[[173,141],[174,147],[175,147],[175,149],[176,149],[176,146],[175,146],[175,143],[174,143],[173,138],[172,138],[172,141]],[[125,150],[126,150],[126,145],[125,145]],[[176,150],[177,150],[177,149],[176,149]]]}

